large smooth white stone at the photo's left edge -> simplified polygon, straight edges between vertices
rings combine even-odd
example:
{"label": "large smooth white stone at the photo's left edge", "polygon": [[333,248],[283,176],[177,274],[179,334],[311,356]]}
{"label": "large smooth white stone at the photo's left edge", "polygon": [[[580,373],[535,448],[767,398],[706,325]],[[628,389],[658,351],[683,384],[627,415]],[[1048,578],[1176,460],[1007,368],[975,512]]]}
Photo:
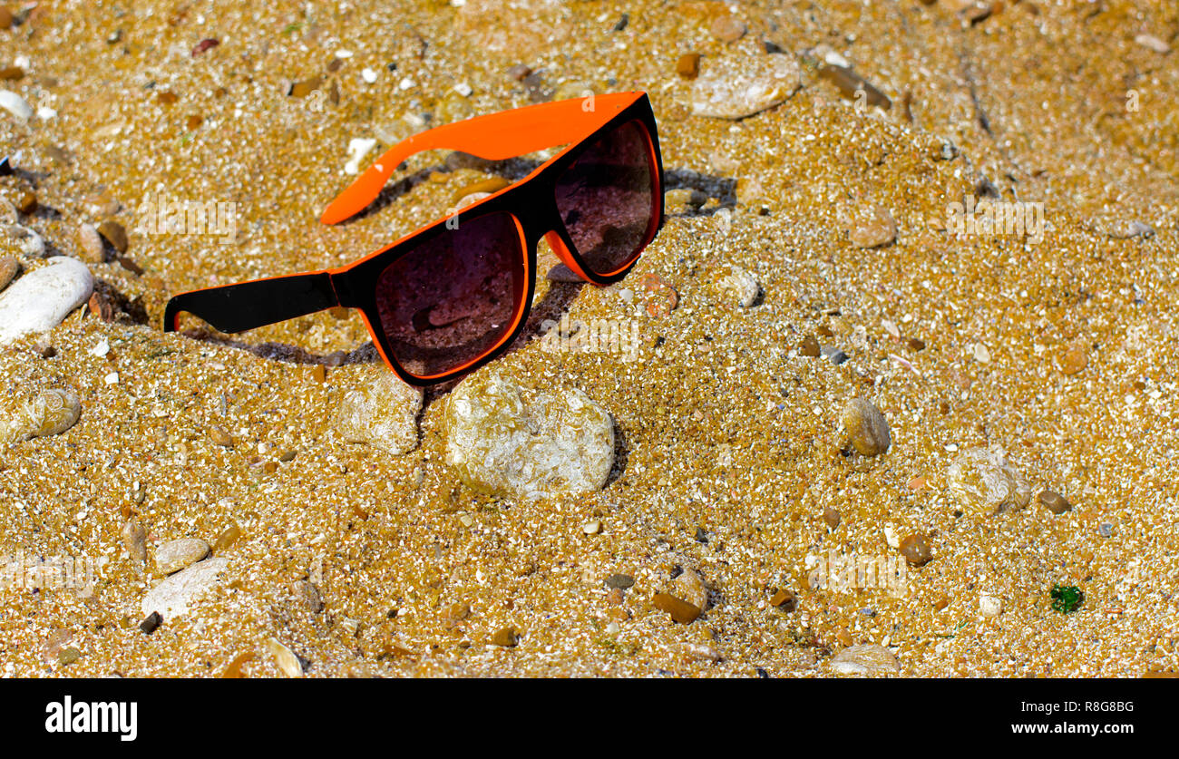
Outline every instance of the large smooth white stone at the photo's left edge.
{"label": "large smooth white stone at the photo's left edge", "polygon": [[94,277],[86,264],[54,258],[0,292],[0,345],[46,332],[90,298]]}

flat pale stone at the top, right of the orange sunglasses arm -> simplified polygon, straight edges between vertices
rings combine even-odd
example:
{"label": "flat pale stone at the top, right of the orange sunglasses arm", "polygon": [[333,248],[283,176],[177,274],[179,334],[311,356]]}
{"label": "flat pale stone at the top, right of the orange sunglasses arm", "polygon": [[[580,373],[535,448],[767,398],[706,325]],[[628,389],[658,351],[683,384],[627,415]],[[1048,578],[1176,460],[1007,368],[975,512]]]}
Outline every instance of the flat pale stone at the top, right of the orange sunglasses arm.
{"label": "flat pale stone at the top, right of the orange sunglasses arm", "polygon": [[742,119],[771,108],[802,86],[793,55],[764,53],[759,45],[710,60],[692,85],[696,116]]}

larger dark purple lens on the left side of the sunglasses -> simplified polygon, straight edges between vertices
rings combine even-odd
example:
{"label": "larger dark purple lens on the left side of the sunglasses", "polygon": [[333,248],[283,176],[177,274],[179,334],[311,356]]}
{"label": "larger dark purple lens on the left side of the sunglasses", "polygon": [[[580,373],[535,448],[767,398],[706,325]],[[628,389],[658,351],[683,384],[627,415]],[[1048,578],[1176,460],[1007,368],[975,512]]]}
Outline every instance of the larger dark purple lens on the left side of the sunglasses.
{"label": "larger dark purple lens on the left side of the sunglasses", "polygon": [[511,213],[457,224],[400,256],[377,278],[388,346],[419,377],[454,371],[493,350],[515,325],[528,290],[523,240]]}

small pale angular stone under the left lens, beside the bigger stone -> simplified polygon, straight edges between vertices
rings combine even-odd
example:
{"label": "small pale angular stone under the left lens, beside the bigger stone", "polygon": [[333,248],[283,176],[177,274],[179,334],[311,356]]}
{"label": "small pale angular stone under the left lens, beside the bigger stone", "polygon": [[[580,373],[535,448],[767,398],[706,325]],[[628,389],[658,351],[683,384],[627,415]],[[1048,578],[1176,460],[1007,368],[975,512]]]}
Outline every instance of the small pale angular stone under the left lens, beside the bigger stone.
{"label": "small pale angular stone under the left lens, beside the bigger stone", "polygon": [[422,390],[380,368],[370,382],[344,394],[336,429],[349,443],[364,443],[401,455],[417,448]]}

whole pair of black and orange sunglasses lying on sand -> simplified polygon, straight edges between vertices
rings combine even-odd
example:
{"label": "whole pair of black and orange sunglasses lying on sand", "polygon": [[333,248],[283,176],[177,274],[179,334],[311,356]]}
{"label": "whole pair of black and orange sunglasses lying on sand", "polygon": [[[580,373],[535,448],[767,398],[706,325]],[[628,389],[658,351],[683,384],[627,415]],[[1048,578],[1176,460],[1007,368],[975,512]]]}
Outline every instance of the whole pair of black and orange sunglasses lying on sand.
{"label": "whole pair of black and orange sunglasses lying on sand", "polygon": [[360,310],[381,357],[409,384],[447,382],[500,356],[523,329],[544,238],[578,277],[626,276],[663,224],[663,159],[644,92],[544,103],[456,121],[393,146],[323,212],[336,224],[381,193],[414,153],[502,160],[569,143],[523,179],[337,269],[173,297],[164,330],[191,314],[242,332],[324,309]]}

